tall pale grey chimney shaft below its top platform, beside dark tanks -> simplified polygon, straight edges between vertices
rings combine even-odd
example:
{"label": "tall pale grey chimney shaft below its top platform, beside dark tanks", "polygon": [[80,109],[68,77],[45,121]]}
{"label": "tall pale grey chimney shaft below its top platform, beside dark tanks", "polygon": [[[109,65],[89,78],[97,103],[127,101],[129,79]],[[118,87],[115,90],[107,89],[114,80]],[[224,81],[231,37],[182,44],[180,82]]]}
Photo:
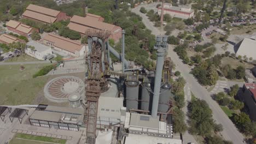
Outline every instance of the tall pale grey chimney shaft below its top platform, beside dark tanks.
{"label": "tall pale grey chimney shaft below its top platform, beside dark tanks", "polygon": [[164,67],[164,56],[165,50],[158,49],[158,60],[156,61],[156,73],[155,73],[155,85],[154,85],[154,96],[152,104],[152,117],[156,118],[158,116],[158,103],[162,79],[162,68]]}

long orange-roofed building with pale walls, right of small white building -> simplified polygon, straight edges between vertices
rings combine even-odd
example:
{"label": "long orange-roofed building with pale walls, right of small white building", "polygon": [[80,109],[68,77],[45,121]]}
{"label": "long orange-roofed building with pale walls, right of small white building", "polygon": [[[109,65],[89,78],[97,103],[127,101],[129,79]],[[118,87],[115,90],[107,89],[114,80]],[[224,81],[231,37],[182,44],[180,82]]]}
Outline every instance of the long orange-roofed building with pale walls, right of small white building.
{"label": "long orange-roofed building with pale walls, right of small white building", "polygon": [[44,44],[51,46],[56,51],[61,51],[66,55],[80,57],[88,53],[88,46],[78,41],[61,37],[56,34],[48,34],[44,38]]}

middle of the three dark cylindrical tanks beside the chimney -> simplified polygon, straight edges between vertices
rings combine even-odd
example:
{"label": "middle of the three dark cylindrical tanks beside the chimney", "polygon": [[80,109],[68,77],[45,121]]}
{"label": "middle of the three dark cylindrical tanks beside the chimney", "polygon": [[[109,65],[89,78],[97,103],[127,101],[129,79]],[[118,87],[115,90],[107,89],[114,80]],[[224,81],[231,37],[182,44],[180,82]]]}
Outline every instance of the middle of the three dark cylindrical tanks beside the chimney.
{"label": "middle of the three dark cylindrical tanks beside the chimney", "polygon": [[141,109],[151,111],[153,93],[150,83],[143,83],[141,89]]}

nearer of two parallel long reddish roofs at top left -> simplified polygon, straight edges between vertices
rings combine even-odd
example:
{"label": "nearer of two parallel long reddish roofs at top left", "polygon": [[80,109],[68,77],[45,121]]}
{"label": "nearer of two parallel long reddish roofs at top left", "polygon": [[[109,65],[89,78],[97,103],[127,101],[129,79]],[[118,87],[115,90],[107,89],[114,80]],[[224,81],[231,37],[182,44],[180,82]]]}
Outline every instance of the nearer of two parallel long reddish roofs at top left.
{"label": "nearer of two parallel long reddish roofs at top left", "polygon": [[56,21],[55,17],[51,17],[48,15],[36,13],[34,11],[26,10],[23,14],[23,16],[30,17],[32,19],[36,19],[38,21],[46,22],[46,23],[53,23]]}

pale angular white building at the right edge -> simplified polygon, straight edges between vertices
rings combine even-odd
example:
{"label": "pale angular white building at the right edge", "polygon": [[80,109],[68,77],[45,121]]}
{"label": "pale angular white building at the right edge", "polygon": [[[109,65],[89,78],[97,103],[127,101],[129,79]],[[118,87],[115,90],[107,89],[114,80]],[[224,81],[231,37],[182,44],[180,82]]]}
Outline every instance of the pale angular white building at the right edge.
{"label": "pale angular white building at the right edge", "polygon": [[246,56],[247,58],[253,58],[256,60],[256,38],[245,38],[235,46],[236,56]]}

